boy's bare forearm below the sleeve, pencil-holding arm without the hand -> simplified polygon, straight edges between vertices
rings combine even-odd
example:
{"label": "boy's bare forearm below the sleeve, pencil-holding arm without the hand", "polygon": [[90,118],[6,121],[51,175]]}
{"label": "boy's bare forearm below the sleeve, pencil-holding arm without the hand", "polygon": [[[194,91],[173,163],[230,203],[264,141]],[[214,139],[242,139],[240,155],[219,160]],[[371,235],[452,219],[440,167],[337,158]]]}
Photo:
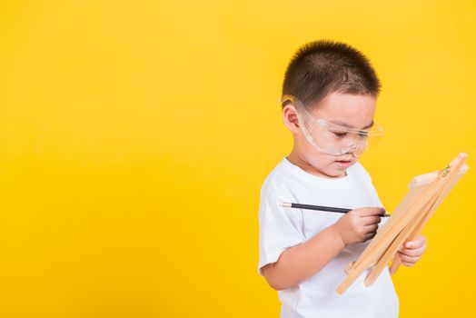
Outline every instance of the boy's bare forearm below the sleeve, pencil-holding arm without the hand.
{"label": "boy's bare forearm below the sleeve, pencil-holding arm without the hand", "polygon": [[276,263],[267,265],[264,276],[276,290],[288,289],[319,272],[345,244],[331,225],[312,239],[286,249]]}

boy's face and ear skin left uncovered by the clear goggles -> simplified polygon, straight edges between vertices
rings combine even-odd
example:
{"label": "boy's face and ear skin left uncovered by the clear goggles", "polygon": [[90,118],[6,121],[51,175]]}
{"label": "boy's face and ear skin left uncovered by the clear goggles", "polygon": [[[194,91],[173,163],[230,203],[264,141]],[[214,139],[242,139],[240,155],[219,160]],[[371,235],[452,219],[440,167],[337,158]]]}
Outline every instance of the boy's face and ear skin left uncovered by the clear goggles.
{"label": "boy's face and ear skin left uncovered by the clear goggles", "polygon": [[[334,124],[364,129],[373,122],[375,105],[376,99],[370,94],[333,92],[325,96],[312,111],[318,112],[319,115]],[[346,175],[347,168],[357,162],[357,158],[353,154],[324,154],[310,144],[302,133],[292,104],[283,108],[283,119],[294,134],[293,153],[289,158],[293,164],[302,165],[303,170],[325,177],[343,177]]]}

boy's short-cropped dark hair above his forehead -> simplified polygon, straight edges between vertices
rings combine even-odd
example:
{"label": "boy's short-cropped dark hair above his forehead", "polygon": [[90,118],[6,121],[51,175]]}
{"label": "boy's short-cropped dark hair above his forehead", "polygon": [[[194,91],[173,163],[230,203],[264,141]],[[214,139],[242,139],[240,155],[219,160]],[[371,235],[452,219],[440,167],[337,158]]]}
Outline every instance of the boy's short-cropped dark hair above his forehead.
{"label": "boy's short-cropped dark hair above his forehead", "polygon": [[310,105],[333,92],[376,97],[380,89],[365,55],[350,45],[329,40],[302,45],[293,55],[283,81],[283,95],[292,94]]}

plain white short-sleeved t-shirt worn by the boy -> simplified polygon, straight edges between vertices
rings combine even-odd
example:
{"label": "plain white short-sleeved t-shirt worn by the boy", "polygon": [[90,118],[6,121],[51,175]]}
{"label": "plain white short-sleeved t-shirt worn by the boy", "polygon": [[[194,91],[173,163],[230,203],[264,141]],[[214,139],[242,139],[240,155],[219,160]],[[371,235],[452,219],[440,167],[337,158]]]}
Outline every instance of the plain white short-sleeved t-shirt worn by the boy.
{"label": "plain white short-sleeved t-shirt worn by the boy", "polygon": [[[324,178],[303,171],[286,157],[277,164],[261,188],[260,260],[258,272],[278,260],[283,251],[303,243],[334,224],[343,214],[283,207],[283,202],[356,209],[383,206],[368,172],[359,162],[342,178]],[[388,220],[382,217],[379,227]],[[330,263],[292,289],[279,291],[281,317],[340,318],[398,317],[399,299],[388,266],[369,287],[365,270],[343,293],[337,287],[347,277],[347,265],[356,261],[371,241],[346,246]],[[319,257],[319,255],[316,255]]]}

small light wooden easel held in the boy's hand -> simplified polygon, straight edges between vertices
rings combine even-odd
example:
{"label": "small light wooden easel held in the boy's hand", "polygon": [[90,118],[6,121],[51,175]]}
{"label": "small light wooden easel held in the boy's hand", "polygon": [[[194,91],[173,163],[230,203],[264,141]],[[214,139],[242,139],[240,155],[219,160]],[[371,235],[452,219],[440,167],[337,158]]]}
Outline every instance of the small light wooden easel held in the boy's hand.
{"label": "small light wooden easel held in the boy's hand", "polygon": [[364,282],[367,287],[375,282],[392,260],[390,273],[397,272],[401,264],[399,258],[395,257],[398,249],[404,242],[414,240],[421,233],[421,229],[436,208],[460,180],[462,174],[468,171],[468,165],[464,164],[467,156],[464,153],[458,154],[445,169],[421,174],[412,179],[409,184],[410,191],[401,204],[377,231],[357,261],[347,266],[345,273],[348,276],[337,288],[337,293],[345,293],[361,273],[372,266],[372,271]]}

